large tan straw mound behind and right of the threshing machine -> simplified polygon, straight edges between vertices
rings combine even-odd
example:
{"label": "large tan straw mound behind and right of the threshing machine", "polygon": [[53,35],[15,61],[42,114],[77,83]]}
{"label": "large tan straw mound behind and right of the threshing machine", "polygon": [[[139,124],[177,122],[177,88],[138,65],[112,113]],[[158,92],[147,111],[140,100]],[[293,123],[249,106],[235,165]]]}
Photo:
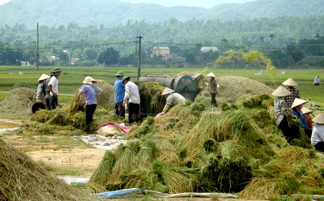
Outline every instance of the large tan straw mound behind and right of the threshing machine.
{"label": "large tan straw mound behind and right of the threshing machine", "polygon": [[[265,84],[254,81],[246,77],[239,76],[220,76],[216,77],[216,82],[219,84],[218,94],[216,95],[216,101],[218,105],[225,103],[234,103],[239,97],[244,94],[268,94],[274,91]],[[211,95],[206,87],[198,97],[210,98]]]}

